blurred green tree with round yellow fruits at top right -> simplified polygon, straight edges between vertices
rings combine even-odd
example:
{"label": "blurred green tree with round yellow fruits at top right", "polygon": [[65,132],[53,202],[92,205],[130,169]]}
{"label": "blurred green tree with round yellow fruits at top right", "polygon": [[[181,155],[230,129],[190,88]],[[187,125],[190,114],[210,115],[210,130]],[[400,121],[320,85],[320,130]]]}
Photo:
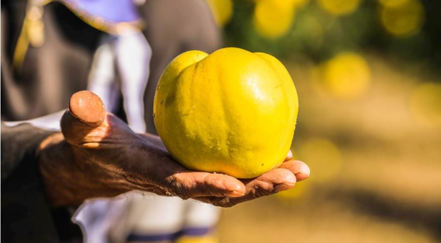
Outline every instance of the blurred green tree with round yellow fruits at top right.
{"label": "blurred green tree with round yellow fruits at top right", "polygon": [[375,51],[441,66],[437,0],[235,0],[225,41],[278,58],[315,62],[342,51]]}

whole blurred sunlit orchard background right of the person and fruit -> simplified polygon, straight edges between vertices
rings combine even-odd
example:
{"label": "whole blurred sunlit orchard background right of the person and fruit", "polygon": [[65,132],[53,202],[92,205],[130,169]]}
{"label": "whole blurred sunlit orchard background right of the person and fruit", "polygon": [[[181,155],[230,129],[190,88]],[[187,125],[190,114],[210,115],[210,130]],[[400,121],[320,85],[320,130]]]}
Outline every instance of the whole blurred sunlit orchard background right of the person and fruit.
{"label": "whole blurred sunlit orchard background right of the person and fruit", "polygon": [[223,211],[221,242],[441,241],[441,4],[207,0],[226,46],[270,53],[300,99],[311,178]]}

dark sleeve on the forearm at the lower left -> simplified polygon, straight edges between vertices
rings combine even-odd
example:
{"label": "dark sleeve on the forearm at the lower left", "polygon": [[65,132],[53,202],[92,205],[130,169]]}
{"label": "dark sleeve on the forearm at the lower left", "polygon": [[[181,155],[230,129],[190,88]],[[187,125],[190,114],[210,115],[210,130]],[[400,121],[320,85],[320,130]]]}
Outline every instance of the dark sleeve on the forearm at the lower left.
{"label": "dark sleeve on the forearm at the lower left", "polygon": [[58,242],[36,149],[51,133],[29,124],[1,127],[3,242]]}

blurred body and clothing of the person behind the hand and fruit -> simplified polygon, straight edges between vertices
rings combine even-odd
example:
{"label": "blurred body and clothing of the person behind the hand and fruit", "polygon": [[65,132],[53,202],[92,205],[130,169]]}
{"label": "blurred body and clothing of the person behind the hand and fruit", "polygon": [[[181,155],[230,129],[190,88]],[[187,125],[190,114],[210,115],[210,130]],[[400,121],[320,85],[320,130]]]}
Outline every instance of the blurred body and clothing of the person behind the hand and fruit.
{"label": "blurred body and clothing of the person behind the hand and fruit", "polygon": [[[217,49],[219,33],[202,1],[138,4],[142,5],[140,10],[148,26],[144,34],[151,47],[140,32],[141,17],[130,1],[2,3],[2,120],[24,120],[35,127],[59,129],[62,109],[70,95],[88,87],[102,98],[108,111],[125,116],[132,130],[143,132],[146,128],[156,133],[150,114],[162,70],[184,51]],[[146,124],[142,117],[145,87]],[[75,208],[56,207],[46,214],[41,210],[44,206],[39,205],[44,201],[43,193],[36,190],[15,194],[23,190],[22,185],[34,188],[34,180],[38,180],[32,174],[34,168],[23,169],[20,161],[32,158],[35,154],[31,151],[52,133],[28,125],[8,128],[2,124],[2,190],[6,191],[2,195],[8,195],[2,200],[2,209],[7,212],[2,216],[2,239],[50,241],[54,239],[53,232],[49,232],[53,228],[38,223],[49,222],[50,218],[61,240],[81,239],[78,227],[69,220]],[[24,151],[17,148],[21,143],[28,144],[21,148]],[[18,155],[12,154],[16,149]],[[7,169],[5,159],[14,160]],[[16,184],[14,176],[19,168],[32,176]],[[19,174],[19,180],[22,176]],[[19,212],[23,210],[24,215]],[[31,221],[27,221],[29,218]],[[89,242],[175,240],[186,235],[204,238],[212,233],[217,218],[216,208],[195,201],[135,194],[91,201],[75,216]],[[10,220],[16,224],[9,224]],[[41,227],[39,232],[29,229],[29,222],[34,224],[32,228]],[[13,236],[12,232],[20,229],[28,233]]]}

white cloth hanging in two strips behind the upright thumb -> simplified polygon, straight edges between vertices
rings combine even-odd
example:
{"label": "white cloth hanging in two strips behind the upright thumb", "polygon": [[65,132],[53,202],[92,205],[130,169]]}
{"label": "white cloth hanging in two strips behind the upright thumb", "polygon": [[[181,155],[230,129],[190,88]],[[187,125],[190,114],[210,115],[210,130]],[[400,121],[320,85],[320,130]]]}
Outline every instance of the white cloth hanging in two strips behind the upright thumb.
{"label": "white cloth hanging in two strips behind the upright thumb", "polygon": [[127,123],[135,132],[145,132],[144,91],[151,57],[152,49],[141,32],[105,35],[89,74],[88,90],[101,97],[107,111],[115,111],[121,91]]}

